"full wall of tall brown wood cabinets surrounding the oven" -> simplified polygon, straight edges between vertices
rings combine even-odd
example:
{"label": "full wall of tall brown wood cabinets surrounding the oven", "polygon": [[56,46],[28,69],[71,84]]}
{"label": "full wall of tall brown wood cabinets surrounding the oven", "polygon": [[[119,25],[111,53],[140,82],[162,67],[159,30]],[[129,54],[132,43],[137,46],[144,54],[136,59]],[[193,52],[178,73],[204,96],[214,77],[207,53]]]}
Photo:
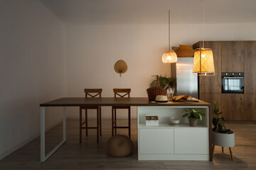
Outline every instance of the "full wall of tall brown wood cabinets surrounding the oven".
{"label": "full wall of tall brown wood cabinets surrounding the oven", "polygon": [[[193,48],[202,47],[197,42]],[[213,50],[215,75],[199,77],[199,98],[208,103],[218,101],[226,120],[256,120],[256,41],[206,41]],[[245,94],[222,94],[221,73],[244,72]]]}

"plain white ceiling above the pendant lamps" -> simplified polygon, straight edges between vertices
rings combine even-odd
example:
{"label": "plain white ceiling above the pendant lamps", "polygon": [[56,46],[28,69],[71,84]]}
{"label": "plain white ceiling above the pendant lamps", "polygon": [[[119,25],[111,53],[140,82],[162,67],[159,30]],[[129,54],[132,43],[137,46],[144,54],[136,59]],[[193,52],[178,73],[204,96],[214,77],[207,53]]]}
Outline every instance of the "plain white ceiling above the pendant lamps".
{"label": "plain white ceiling above the pendant lamps", "polygon": [[[65,24],[203,23],[202,0],[41,0]],[[256,23],[256,0],[205,0],[205,23]]]}

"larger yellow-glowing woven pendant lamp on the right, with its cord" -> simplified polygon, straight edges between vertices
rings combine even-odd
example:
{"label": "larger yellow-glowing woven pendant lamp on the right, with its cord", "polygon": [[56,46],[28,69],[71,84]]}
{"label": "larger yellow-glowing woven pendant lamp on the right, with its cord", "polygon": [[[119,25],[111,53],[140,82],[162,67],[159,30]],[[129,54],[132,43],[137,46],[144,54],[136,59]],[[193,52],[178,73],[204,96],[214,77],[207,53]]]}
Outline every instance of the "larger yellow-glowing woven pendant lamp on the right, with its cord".
{"label": "larger yellow-glowing woven pendant lamp on the right, with its cord", "polygon": [[214,76],[213,50],[204,47],[205,1],[203,0],[203,47],[197,48],[193,59],[193,74]]}

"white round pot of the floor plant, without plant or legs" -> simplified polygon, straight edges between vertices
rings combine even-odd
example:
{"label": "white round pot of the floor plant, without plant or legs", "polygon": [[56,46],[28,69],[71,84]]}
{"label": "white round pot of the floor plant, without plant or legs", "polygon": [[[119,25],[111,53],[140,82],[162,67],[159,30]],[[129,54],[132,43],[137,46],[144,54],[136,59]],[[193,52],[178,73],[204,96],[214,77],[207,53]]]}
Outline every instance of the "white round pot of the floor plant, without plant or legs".
{"label": "white round pot of the floor plant, without plant or legs", "polygon": [[235,132],[232,130],[228,133],[213,132],[213,144],[220,147],[234,147]]}

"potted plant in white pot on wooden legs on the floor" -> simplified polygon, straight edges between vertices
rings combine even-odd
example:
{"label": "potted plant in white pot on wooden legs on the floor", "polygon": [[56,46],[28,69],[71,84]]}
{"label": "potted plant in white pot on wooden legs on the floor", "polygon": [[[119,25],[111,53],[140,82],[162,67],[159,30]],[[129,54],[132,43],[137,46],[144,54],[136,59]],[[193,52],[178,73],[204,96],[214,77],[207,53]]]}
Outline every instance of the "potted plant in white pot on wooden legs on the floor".
{"label": "potted plant in white pot on wooden legs on the floor", "polygon": [[231,147],[235,146],[235,132],[227,129],[224,123],[220,122],[220,120],[225,121],[225,118],[221,116],[222,112],[219,112],[218,102],[214,103],[213,113],[216,115],[216,117],[213,118],[213,149],[215,145],[220,147],[229,147],[230,156],[233,160]]}

